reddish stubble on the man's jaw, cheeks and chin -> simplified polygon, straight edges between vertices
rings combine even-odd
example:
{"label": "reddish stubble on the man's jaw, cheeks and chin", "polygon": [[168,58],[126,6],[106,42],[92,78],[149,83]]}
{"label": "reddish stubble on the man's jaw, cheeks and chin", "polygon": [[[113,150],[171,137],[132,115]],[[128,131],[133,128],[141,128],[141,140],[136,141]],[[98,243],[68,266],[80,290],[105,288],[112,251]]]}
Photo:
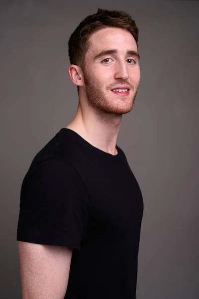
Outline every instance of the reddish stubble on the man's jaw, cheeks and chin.
{"label": "reddish stubble on the man's jaw, cheeks and chin", "polygon": [[[131,101],[128,100],[129,105],[126,105],[126,100],[122,98],[124,105],[121,107],[121,105],[111,103],[111,101],[104,95],[104,92],[100,88],[100,83],[98,84],[96,81],[92,81],[87,77],[86,74],[84,74],[84,78],[88,104],[96,111],[97,114],[114,114],[116,116],[121,116],[122,114],[127,114],[132,110],[138,91],[138,84],[137,86],[134,86],[134,94],[132,99]],[[124,84],[126,85],[127,83],[118,82],[118,85]],[[111,87],[107,88],[107,91],[110,89]]]}

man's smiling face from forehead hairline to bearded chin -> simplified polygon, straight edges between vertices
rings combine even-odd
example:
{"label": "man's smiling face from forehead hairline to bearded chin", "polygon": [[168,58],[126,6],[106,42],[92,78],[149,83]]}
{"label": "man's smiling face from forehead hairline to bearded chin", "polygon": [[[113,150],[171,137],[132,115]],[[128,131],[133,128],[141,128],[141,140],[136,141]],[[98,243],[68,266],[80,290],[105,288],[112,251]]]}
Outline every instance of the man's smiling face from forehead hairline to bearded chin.
{"label": "man's smiling face from forehead hairline to bearded chin", "polygon": [[85,92],[98,112],[131,111],[140,81],[135,39],[124,29],[107,27],[93,33],[85,56]]}

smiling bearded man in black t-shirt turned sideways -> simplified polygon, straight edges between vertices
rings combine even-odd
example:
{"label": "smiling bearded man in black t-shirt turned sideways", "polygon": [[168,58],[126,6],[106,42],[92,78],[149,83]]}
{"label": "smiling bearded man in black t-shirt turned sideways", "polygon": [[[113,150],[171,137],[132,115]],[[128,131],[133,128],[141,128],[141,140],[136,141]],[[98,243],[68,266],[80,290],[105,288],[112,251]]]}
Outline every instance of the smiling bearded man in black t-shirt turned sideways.
{"label": "smiling bearded man in black t-shirt turned sideways", "polygon": [[21,186],[23,299],[135,299],[143,200],[116,140],[140,81],[137,41],[128,14],[103,9],[69,39],[77,113]]}

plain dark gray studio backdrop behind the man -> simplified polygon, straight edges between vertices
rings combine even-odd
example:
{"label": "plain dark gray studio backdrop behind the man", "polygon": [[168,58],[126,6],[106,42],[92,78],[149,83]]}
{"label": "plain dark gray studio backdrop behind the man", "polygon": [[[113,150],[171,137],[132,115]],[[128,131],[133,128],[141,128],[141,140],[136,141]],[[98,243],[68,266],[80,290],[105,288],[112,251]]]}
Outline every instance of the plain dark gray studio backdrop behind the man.
{"label": "plain dark gray studio backdrop behind the man", "polygon": [[137,297],[198,299],[199,1],[125,0],[0,2],[0,298],[21,298],[22,179],[76,112],[67,42],[99,6],[140,29],[140,87],[117,140],[144,198]]}

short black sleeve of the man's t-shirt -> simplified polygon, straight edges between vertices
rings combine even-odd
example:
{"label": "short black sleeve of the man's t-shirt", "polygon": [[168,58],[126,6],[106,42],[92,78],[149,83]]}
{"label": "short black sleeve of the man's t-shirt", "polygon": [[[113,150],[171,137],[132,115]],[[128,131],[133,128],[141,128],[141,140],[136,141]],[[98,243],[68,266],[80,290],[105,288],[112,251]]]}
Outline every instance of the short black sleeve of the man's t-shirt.
{"label": "short black sleeve of the man's t-shirt", "polygon": [[30,167],[21,186],[17,240],[80,250],[88,202],[84,182],[68,162],[50,159]]}

